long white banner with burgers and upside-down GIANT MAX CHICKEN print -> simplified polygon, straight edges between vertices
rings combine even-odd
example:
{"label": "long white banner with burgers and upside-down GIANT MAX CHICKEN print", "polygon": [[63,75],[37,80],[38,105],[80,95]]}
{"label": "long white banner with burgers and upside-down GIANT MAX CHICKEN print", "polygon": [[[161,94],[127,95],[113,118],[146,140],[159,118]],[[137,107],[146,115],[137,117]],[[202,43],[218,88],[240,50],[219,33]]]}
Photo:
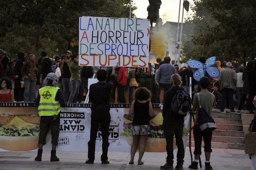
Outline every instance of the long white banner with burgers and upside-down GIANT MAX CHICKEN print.
{"label": "long white banner with burgers and upside-down GIANT MAX CHICKEN print", "polygon": [[[0,103],[0,151],[36,150],[39,122],[35,103]],[[130,152],[132,144],[131,123],[125,119],[130,104],[111,104],[109,127],[109,151]],[[159,104],[153,104],[154,118],[150,120],[151,134],[146,143],[147,152],[165,152],[166,140],[163,136],[163,116]],[[90,140],[90,104],[68,103],[61,108],[58,150],[87,152]],[[184,118],[183,143],[186,147],[189,131],[189,114]],[[47,135],[44,150],[51,150],[51,133]],[[175,140],[174,140],[175,142]],[[102,134],[99,128],[96,150],[101,151]],[[174,148],[177,146],[174,143]]]}

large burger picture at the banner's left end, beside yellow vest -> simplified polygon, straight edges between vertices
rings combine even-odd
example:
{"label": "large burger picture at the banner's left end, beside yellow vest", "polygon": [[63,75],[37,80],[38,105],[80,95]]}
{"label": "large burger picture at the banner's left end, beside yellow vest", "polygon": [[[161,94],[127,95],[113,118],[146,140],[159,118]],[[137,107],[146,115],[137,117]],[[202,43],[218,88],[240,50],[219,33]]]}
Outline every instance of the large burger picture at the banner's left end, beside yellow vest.
{"label": "large burger picture at the banner's left end, beside yellow vest", "polygon": [[[38,148],[40,117],[37,108],[0,108],[0,148],[27,151]],[[47,141],[49,142],[49,135]]]}

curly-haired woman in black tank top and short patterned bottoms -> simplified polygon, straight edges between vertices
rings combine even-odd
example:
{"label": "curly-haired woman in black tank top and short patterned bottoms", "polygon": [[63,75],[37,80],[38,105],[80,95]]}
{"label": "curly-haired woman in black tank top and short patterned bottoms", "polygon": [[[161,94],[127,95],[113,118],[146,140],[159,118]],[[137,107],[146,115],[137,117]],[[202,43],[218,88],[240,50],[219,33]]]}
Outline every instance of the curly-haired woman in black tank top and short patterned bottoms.
{"label": "curly-haired woman in black tank top and short patterned bottoms", "polygon": [[125,116],[125,118],[128,119],[130,116],[134,115],[133,126],[131,127],[133,143],[131,146],[131,160],[129,164],[134,164],[134,156],[138,146],[140,146],[138,165],[143,164],[141,159],[145,152],[148,134],[151,134],[149,118],[154,117],[150,100],[151,91],[147,88],[138,88],[135,91],[135,100],[131,103],[129,114]]}

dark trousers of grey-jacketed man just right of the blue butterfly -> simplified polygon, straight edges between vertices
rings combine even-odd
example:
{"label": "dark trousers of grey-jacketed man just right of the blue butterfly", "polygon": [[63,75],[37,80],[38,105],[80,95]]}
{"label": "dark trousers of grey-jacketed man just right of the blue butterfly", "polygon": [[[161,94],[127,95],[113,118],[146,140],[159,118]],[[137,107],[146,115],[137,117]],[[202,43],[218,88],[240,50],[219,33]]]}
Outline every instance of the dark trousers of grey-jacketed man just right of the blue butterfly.
{"label": "dark trousers of grey-jacketed man just right of the blue butterfly", "polygon": [[221,91],[221,111],[225,109],[226,99],[228,97],[230,104],[230,111],[234,111],[234,99],[233,99],[234,91],[232,88],[224,88]]}

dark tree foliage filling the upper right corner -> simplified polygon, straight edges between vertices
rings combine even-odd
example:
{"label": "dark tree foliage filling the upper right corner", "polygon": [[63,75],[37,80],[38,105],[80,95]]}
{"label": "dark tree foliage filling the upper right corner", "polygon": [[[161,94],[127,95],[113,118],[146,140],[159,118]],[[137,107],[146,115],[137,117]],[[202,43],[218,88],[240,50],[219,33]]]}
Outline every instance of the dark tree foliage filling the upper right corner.
{"label": "dark tree foliage filling the upper right corner", "polygon": [[251,0],[195,0],[183,61],[217,56],[241,61],[256,56],[256,3]]}

